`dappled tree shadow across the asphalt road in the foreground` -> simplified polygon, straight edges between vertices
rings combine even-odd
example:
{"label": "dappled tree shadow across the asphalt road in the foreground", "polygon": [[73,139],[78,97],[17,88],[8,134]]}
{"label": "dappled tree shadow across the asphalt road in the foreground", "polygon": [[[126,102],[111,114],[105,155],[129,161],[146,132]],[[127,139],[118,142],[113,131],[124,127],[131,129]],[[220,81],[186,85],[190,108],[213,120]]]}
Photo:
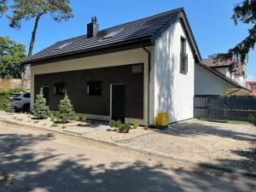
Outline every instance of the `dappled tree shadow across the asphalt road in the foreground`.
{"label": "dappled tree shadow across the asphalt road in the foreground", "polygon": [[[0,135],[0,174],[5,178],[0,180],[0,191],[244,191],[247,185],[235,185],[235,176],[223,178],[224,172],[207,172],[201,165],[189,171],[182,167],[167,168],[161,163],[148,166],[143,161],[89,166],[86,154],[63,160],[62,154],[52,148],[30,150],[37,143],[53,139],[50,134]],[[253,189],[253,185],[247,186],[248,191]]]}

